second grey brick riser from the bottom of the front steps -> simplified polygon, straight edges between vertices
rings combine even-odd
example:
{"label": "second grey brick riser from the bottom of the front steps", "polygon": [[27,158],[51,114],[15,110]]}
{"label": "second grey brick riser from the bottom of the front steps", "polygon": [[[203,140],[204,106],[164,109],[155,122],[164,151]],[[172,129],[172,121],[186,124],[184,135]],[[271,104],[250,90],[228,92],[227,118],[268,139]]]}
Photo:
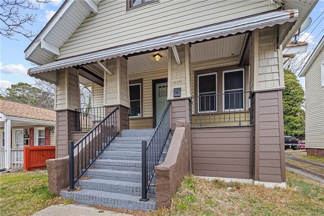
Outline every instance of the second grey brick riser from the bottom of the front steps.
{"label": "second grey brick riser from the bottom of the front steps", "polygon": [[[120,194],[127,194],[127,195],[132,195],[132,196],[142,196],[142,188],[141,187],[119,187],[119,188],[113,188],[113,187],[105,187],[104,184],[102,186],[88,186],[88,185],[83,185],[83,184],[75,184],[77,187],[80,187],[84,190],[92,190],[92,191],[104,191],[104,192],[109,192],[109,193],[120,193]],[[129,189],[129,190],[127,190]],[[149,191],[147,192],[147,197],[149,198],[155,198],[156,195],[156,189],[155,188],[150,188]]]}

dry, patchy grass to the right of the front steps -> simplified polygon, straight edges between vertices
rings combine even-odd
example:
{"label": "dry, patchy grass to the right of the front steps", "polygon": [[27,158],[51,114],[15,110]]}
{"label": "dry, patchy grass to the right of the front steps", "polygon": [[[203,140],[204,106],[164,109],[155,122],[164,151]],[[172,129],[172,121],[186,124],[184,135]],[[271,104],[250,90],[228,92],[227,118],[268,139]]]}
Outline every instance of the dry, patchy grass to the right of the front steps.
{"label": "dry, patchy grass to the right of the front steps", "polygon": [[[323,215],[324,188],[287,172],[287,189],[185,177],[171,209],[153,215]],[[298,184],[297,184],[298,182]],[[303,184],[301,184],[303,183]],[[307,190],[304,190],[308,188]],[[301,193],[301,191],[303,191]],[[313,193],[317,191],[317,193]]]}

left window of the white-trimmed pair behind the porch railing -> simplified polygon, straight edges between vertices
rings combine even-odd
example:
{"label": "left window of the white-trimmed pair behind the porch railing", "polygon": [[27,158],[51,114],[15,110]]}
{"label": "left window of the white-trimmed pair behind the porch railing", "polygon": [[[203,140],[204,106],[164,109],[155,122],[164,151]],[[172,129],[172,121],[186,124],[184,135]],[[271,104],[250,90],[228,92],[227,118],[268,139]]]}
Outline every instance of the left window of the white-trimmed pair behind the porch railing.
{"label": "left window of the white-trimmed pair behind the porch railing", "polygon": [[217,73],[197,75],[198,112],[217,111]]}

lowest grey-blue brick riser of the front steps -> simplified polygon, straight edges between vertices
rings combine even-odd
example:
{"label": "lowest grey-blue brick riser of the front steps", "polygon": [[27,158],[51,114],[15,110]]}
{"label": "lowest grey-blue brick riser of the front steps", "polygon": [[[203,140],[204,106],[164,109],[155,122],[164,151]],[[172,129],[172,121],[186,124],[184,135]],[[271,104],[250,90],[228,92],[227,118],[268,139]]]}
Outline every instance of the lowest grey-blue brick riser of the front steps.
{"label": "lowest grey-blue brick riser of the front steps", "polygon": [[[116,194],[118,195],[118,194]],[[114,208],[124,208],[129,210],[153,210],[155,209],[155,199],[151,198],[151,201],[141,202],[139,201],[141,197],[134,196],[130,200],[118,199],[118,196],[115,198],[109,198],[96,195],[84,195],[77,193],[68,193],[66,191],[62,191],[61,196],[64,198],[72,198],[75,202],[85,203],[89,205],[103,205]],[[120,197],[120,196],[119,196]],[[121,196],[122,197],[122,196]]]}

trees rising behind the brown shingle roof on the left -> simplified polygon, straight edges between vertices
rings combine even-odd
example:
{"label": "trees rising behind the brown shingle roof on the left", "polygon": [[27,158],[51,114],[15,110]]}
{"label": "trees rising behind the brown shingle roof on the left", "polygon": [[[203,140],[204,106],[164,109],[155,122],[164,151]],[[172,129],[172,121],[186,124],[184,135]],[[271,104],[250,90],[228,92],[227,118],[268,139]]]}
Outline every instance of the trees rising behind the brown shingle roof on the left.
{"label": "trees rising behind the brown shingle roof on the left", "polygon": [[1,92],[1,99],[53,109],[54,95],[27,83],[18,83]]}

